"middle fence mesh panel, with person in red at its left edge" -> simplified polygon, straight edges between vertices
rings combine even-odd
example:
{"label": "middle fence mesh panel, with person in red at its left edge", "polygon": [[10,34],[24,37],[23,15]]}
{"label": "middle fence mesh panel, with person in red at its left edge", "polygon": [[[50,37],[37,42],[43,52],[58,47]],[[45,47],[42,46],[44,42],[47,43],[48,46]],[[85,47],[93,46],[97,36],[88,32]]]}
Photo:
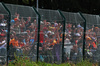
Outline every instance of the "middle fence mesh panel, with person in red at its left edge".
{"label": "middle fence mesh panel, with person in red at its left edge", "polygon": [[63,19],[57,10],[39,9],[41,15],[39,60],[61,63]]}

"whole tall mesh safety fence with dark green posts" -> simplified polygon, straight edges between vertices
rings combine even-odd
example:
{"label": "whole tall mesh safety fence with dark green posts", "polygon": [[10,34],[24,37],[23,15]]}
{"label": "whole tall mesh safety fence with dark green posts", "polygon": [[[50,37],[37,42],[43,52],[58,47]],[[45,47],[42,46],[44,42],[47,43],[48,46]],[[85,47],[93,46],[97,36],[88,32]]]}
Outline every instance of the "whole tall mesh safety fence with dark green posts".
{"label": "whole tall mesh safety fence with dark green posts", "polygon": [[62,63],[100,60],[100,17],[0,3],[0,64],[16,56]]}

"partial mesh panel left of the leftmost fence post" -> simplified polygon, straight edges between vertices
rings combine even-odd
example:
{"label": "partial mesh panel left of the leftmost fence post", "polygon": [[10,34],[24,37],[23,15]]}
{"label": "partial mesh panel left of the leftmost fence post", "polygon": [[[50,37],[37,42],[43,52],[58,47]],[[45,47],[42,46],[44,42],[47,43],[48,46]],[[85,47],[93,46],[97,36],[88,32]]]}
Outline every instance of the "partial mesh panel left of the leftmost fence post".
{"label": "partial mesh panel left of the leftmost fence post", "polygon": [[8,30],[8,12],[0,3],[0,64],[6,64],[7,58],[7,30]]}

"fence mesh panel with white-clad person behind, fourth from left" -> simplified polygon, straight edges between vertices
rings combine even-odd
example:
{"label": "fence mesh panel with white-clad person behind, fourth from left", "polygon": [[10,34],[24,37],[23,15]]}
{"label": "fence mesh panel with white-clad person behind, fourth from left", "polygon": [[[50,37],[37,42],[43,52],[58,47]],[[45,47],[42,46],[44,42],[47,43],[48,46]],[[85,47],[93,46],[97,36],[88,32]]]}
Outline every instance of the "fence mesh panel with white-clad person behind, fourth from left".
{"label": "fence mesh panel with white-clad person behind, fourth from left", "polygon": [[63,12],[66,18],[64,61],[81,61],[83,56],[84,20],[79,13]]}

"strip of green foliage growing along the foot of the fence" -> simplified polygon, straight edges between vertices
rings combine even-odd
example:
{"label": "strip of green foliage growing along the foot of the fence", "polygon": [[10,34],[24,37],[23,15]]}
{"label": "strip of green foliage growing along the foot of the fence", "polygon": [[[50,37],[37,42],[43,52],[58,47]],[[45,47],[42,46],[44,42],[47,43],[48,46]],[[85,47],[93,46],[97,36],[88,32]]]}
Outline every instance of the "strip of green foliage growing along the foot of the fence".
{"label": "strip of green foliage growing along the foot of the fence", "polygon": [[98,66],[98,63],[89,62],[89,60],[84,60],[76,64],[73,63],[62,63],[62,64],[50,64],[45,62],[33,62],[30,61],[28,57],[15,56],[13,62],[9,62],[8,66]]}

